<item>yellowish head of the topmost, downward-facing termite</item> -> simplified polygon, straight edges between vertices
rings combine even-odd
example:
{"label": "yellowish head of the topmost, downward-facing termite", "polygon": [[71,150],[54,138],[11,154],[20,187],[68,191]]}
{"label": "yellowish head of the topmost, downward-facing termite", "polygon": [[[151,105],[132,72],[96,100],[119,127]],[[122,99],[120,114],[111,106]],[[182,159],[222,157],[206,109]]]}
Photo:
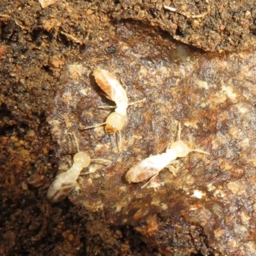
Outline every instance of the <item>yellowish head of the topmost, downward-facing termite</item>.
{"label": "yellowish head of the topmost, downward-facing termite", "polygon": [[121,131],[124,128],[126,122],[126,116],[123,116],[119,113],[111,113],[106,120],[106,133],[112,134],[117,131]]}

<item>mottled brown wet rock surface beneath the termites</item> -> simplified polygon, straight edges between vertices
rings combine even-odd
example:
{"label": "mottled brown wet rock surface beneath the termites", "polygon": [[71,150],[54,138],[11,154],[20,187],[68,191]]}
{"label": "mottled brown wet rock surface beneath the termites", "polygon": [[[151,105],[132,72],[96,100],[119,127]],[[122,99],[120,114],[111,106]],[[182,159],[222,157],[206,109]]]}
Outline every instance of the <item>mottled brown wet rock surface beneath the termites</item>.
{"label": "mottled brown wet rock surface beneath the termites", "polygon": [[[47,114],[60,155],[76,152],[67,146],[75,132],[80,150],[113,161],[108,168],[91,164],[96,172],[79,177],[70,200],[104,211],[111,225],[134,226],[165,255],[256,253],[255,53],[206,54],[131,24],[101,37],[69,63]],[[83,129],[111,113],[99,106],[113,105],[95,83],[96,67],[115,73],[131,102],[147,99],[128,108],[120,153],[104,127]],[[211,155],[190,153],[175,175],[164,168],[143,189],[127,184],[134,163],[175,141],[177,120],[182,139]]]}

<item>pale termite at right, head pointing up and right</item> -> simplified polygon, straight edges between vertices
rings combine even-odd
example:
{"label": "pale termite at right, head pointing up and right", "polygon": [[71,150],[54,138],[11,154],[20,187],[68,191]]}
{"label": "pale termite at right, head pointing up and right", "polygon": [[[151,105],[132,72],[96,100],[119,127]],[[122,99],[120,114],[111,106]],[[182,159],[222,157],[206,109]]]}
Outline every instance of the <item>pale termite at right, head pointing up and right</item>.
{"label": "pale termite at right, head pointing up and right", "polygon": [[[139,163],[132,166],[125,175],[125,179],[130,183],[143,182],[148,179],[154,179],[164,167],[168,166],[177,157],[186,157],[190,152],[199,152],[209,155],[200,149],[191,149],[188,141],[180,140],[180,123],[179,123],[179,135],[178,140],[172,143],[170,148],[166,149],[163,154],[157,154],[156,156],[150,156],[143,159]],[[148,180],[148,182],[150,182]],[[148,182],[141,188],[144,188]]]}

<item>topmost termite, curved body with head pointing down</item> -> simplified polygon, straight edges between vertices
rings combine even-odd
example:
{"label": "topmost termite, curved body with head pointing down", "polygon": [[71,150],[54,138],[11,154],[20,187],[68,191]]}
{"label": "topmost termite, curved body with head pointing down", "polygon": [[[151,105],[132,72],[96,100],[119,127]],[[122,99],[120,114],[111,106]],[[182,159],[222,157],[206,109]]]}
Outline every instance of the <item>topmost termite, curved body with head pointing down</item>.
{"label": "topmost termite, curved body with head pointing down", "polygon": [[122,87],[118,79],[108,70],[102,68],[95,68],[95,70],[93,70],[93,76],[95,77],[95,81],[99,85],[100,89],[104,93],[106,93],[106,97],[115,102],[116,109],[108,116],[106,122],[85,127],[84,129],[91,129],[106,124],[105,130],[107,134],[113,134],[118,131],[120,132],[124,128],[125,122],[127,122],[128,106],[145,101],[145,99],[128,103],[127,94],[124,88]]}

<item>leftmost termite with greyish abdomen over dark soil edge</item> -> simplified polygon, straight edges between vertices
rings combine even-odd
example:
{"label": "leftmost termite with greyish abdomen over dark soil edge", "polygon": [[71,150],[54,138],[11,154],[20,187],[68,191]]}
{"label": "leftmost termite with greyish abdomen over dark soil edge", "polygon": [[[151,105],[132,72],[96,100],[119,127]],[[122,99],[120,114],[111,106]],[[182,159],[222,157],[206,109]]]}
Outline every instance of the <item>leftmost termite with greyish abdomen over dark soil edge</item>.
{"label": "leftmost termite with greyish abdomen over dark soil edge", "polygon": [[[77,143],[76,136],[75,140]],[[103,163],[106,162],[108,164],[111,163],[111,161],[106,159],[91,159],[87,152],[79,151],[78,143],[77,151],[78,153],[76,153],[73,158],[74,163],[72,164],[71,168],[68,169],[67,172],[63,172],[57,175],[48,189],[47,198],[52,203],[60,202],[66,196],[68,196],[73,189],[79,186],[76,180],[78,179],[79,175],[86,175],[91,173],[81,173],[81,171],[83,168],[88,167],[92,161],[100,161]]]}

